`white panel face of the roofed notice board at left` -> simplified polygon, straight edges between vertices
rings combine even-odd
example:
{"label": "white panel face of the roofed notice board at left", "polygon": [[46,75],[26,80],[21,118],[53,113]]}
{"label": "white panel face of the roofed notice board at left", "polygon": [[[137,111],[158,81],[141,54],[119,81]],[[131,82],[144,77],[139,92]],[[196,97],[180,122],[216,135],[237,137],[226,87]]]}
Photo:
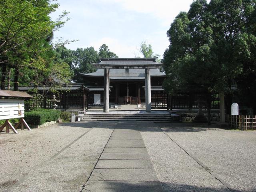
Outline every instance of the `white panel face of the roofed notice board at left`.
{"label": "white panel face of the roofed notice board at left", "polygon": [[24,100],[0,99],[0,120],[24,118],[24,111]]}

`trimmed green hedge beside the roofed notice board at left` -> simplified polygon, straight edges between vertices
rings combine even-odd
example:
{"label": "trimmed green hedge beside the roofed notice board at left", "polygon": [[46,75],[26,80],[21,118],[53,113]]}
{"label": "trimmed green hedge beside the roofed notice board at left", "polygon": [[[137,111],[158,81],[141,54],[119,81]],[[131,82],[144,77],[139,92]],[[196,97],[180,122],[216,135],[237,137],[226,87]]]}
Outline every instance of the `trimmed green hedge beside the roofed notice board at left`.
{"label": "trimmed green hedge beside the roofed notice board at left", "polygon": [[61,111],[53,109],[37,109],[25,112],[25,121],[28,124],[42,125],[45,122],[56,121],[60,117]]}

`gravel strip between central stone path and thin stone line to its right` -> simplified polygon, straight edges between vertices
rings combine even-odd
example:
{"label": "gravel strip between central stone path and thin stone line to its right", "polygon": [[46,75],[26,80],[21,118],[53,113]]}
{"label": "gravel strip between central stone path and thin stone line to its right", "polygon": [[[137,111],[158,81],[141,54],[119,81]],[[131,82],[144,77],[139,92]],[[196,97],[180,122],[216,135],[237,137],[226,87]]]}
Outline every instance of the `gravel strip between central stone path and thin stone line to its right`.
{"label": "gravel strip between central stone path and thin stone line to its right", "polygon": [[166,192],[229,192],[219,180],[161,132],[156,124],[139,125],[158,178]]}

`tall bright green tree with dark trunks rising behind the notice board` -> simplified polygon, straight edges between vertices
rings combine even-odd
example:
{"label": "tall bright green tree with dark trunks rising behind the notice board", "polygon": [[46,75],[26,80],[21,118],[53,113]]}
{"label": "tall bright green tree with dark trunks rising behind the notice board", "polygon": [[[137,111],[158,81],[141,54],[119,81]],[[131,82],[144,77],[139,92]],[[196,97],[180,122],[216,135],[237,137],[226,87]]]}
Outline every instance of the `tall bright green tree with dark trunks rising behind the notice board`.
{"label": "tall bright green tree with dark trunks rising behind the notice board", "polygon": [[[52,48],[48,38],[63,26],[63,14],[52,21],[49,14],[58,8],[51,0],[3,0],[0,5],[0,66],[1,88],[5,88],[6,68],[16,68],[16,87],[19,69],[32,66],[34,53]],[[47,45],[48,44],[48,45]],[[46,46],[44,46],[46,45]],[[33,53],[33,54],[32,54]]]}

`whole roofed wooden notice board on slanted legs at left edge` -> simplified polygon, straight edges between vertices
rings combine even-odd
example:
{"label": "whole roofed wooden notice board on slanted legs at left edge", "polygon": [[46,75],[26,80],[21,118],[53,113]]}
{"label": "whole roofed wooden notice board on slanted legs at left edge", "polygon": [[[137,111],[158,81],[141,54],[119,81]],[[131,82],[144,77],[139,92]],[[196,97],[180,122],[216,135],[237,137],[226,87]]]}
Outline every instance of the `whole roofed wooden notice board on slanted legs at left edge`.
{"label": "whole roofed wooden notice board on slanted legs at left edge", "polygon": [[[23,98],[32,98],[32,96],[25,92],[0,90],[0,97],[2,97],[0,99],[0,120],[6,120],[0,128],[0,132],[6,128],[6,133],[9,133],[10,128],[14,133],[18,134],[17,129],[20,127],[21,130],[24,130],[24,126],[31,130],[24,120],[25,105]],[[20,118],[15,128],[9,121],[9,119],[13,118]]]}

